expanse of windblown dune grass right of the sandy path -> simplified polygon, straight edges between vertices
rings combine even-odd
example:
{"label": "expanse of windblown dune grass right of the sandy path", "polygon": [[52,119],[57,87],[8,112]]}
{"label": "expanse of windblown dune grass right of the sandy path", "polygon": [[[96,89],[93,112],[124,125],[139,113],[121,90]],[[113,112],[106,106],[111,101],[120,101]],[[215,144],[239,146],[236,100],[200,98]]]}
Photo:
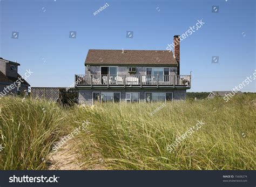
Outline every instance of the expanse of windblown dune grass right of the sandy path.
{"label": "expanse of windblown dune grass right of the sandy path", "polygon": [[[254,101],[252,101],[254,99]],[[97,163],[95,151],[109,169],[121,170],[253,170],[255,169],[255,96],[198,102],[173,102],[155,114],[160,103],[99,105],[79,109],[91,122],[80,134],[84,163]],[[167,145],[197,121],[205,124],[170,153]],[[88,146],[91,144],[92,146]]]}

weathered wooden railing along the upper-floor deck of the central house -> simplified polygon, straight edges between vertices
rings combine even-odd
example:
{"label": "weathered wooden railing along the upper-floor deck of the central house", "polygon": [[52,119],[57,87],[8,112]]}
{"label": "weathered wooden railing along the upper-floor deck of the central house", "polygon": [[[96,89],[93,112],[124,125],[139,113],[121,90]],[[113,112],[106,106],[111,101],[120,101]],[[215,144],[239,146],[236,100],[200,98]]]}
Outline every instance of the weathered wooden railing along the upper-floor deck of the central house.
{"label": "weathered wooden railing along the upper-floor deck of the central house", "polygon": [[191,75],[75,75],[77,86],[191,86]]}

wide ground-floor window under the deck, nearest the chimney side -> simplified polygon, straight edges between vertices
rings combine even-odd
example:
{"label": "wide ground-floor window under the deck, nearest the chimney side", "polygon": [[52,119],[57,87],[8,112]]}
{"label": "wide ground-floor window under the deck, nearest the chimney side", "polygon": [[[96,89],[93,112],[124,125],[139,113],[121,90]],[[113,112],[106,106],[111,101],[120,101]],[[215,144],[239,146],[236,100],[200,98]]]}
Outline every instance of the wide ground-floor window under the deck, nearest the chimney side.
{"label": "wide ground-floor window under the deck, nearest the chimney side", "polygon": [[172,101],[172,92],[161,93],[161,92],[147,92],[145,93],[145,100],[148,103],[151,102],[171,102]]}

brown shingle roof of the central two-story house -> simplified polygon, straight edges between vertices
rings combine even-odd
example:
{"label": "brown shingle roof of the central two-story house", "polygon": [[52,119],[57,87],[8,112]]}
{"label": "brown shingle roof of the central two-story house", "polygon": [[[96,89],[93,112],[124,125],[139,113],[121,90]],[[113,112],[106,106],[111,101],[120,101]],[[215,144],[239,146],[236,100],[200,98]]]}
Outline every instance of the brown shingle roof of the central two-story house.
{"label": "brown shingle roof of the central two-story house", "polygon": [[122,50],[89,50],[85,65],[178,65],[172,51],[124,50],[124,53],[122,52]]}

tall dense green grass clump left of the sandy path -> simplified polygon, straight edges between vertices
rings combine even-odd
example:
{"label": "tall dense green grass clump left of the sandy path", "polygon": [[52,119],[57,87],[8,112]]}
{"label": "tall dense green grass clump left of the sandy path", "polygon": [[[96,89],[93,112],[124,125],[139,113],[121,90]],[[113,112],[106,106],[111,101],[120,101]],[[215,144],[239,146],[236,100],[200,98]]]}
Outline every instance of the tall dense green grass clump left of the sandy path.
{"label": "tall dense green grass clump left of the sandy path", "polygon": [[64,111],[53,102],[13,96],[0,105],[0,169],[46,169],[50,148],[65,131]]}

